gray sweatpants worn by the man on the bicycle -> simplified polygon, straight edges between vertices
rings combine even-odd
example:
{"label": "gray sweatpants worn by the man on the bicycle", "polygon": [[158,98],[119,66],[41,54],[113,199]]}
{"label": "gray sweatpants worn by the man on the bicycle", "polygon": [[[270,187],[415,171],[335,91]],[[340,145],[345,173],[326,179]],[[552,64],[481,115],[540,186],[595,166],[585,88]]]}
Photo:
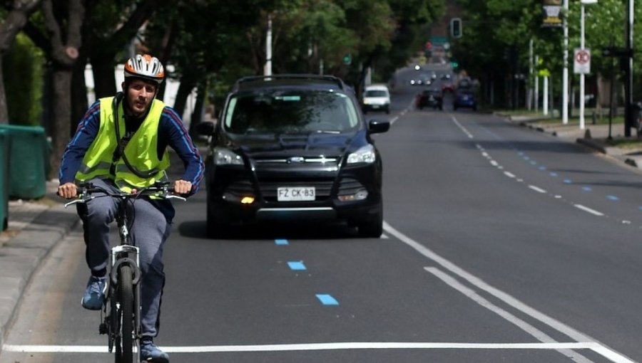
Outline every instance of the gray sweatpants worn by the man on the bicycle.
{"label": "gray sweatpants worn by the man on the bicycle", "polygon": [[[101,179],[93,185],[118,191],[113,184]],[[97,195],[97,194],[95,194]],[[116,218],[118,199],[101,197],[87,204],[77,204],[83,221],[86,261],[93,275],[104,275],[109,263],[111,244],[110,223]],[[130,204],[131,205],[131,204]],[[171,223],[153,203],[136,199],[133,203],[134,223],[129,231],[134,246],[140,250],[141,308],[143,336],[156,337],[160,326],[161,296],[165,285],[163,273],[163,244],[170,235]]]}

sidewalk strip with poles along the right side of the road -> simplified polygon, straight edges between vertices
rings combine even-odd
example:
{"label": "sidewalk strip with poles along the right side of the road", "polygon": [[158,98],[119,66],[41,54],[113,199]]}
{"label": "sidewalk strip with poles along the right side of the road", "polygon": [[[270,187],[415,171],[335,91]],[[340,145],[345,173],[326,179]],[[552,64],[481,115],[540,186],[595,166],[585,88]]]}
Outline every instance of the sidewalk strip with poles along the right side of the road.
{"label": "sidewalk strip with poles along the right side of the road", "polygon": [[[596,152],[601,152],[602,154],[608,155],[608,157],[618,160],[618,162],[622,162],[636,169],[642,169],[642,140],[640,147],[623,148],[611,146],[607,140],[608,125],[592,125],[591,121],[587,119],[584,130],[581,130],[577,122],[562,125],[561,123],[551,124],[549,122],[542,122],[543,117],[533,115],[504,115],[501,112],[496,112],[496,115],[502,116],[506,118],[507,121],[516,125],[545,132],[568,140],[569,142],[583,144]],[[638,140],[635,135],[635,130],[632,130],[631,137],[624,137],[623,135],[623,125],[611,125],[611,138],[613,140]]]}

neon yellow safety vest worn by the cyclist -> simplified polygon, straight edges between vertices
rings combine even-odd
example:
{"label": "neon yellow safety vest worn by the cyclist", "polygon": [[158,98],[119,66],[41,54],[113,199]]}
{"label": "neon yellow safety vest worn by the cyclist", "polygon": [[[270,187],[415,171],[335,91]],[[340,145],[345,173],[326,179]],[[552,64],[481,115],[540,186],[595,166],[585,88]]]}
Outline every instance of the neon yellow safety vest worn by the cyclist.
{"label": "neon yellow safety vest worn by the cyclist", "polygon": [[[93,178],[111,179],[121,191],[126,193],[134,188],[151,186],[156,181],[166,181],[165,170],[169,167],[169,155],[165,150],[162,159],[158,159],[158,122],[161,121],[161,113],[165,103],[160,100],[153,100],[147,117],[141,123],[141,127],[127,143],[124,154],[131,167],[139,174],[151,175],[151,177],[138,177],[123,161],[121,156],[114,165],[115,174],[111,173],[113,164],[113,153],[118,147],[116,140],[116,126],[114,125],[113,97],[101,98],[101,125],[98,135],[87,150],[80,169],[76,172],[76,181],[88,181]],[[118,125],[121,134],[125,131],[125,119],[123,117],[123,102],[118,105]],[[122,137],[123,135],[121,135]]]}

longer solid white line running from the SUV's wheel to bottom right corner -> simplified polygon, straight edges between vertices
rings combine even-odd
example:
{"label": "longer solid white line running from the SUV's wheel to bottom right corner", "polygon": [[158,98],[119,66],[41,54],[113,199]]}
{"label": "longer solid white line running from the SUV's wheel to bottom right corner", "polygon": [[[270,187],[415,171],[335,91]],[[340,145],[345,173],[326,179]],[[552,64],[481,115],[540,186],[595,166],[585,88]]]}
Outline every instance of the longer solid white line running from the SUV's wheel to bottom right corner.
{"label": "longer solid white line running from the SUV's wheel to bottom right corner", "polygon": [[[498,298],[499,300],[503,301],[507,305],[514,307],[516,310],[519,310],[522,313],[529,315],[530,317],[548,325],[554,330],[557,330],[558,332],[561,332],[562,334],[571,337],[571,339],[576,340],[576,342],[595,342],[600,344],[602,347],[605,347],[605,349],[608,349],[606,345],[598,342],[592,337],[589,337],[588,335],[582,332],[579,332],[578,330],[575,330],[572,327],[569,327],[568,325],[564,324],[563,322],[560,322],[559,320],[555,320],[553,317],[549,317],[549,315],[546,315],[543,312],[539,312],[538,310],[535,310],[534,308],[524,304],[524,302],[521,302],[516,298],[512,297],[511,295],[492,287],[491,285],[484,282],[484,280],[481,280],[480,278],[477,278],[471,273],[468,273],[466,270],[459,268],[459,266],[448,261],[446,258],[443,258],[442,256],[437,255],[437,253],[434,253],[433,251],[431,251],[429,248],[422,245],[421,243],[418,243],[417,241],[412,240],[412,238],[409,238],[403,233],[392,228],[392,226],[390,226],[386,221],[384,221],[384,230],[389,235],[394,236],[394,238],[399,239],[399,241],[402,241],[403,243],[406,243],[408,246],[414,248],[415,251],[421,253],[422,255],[426,256],[427,258],[434,261],[435,263],[439,263],[439,265],[442,265],[442,267],[445,268],[446,270],[450,271],[451,273],[454,273],[455,275],[458,275],[460,278],[463,278],[464,280],[467,280],[469,283],[479,288],[480,290],[486,291],[486,293],[493,295],[495,298]],[[614,356],[618,357],[617,360],[609,358],[611,359],[612,362],[633,363],[633,361],[624,357],[621,354],[618,354],[618,352],[614,352],[611,349],[608,349],[608,350],[612,352]]]}

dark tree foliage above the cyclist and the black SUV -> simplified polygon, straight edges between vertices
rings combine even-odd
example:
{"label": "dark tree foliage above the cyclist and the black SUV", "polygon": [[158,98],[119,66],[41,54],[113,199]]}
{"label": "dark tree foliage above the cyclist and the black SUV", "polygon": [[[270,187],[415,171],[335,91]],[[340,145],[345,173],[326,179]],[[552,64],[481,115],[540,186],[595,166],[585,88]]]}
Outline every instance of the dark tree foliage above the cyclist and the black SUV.
{"label": "dark tree foliage above the cyclist and the black SUV", "polygon": [[[102,97],[116,91],[115,65],[136,52],[153,53],[168,65],[170,77],[180,80],[174,106],[183,112],[193,89],[199,90],[198,103],[220,101],[235,79],[263,74],[271,19],[274,73],[335,74],[358,88],[366,69],[374,69],[374,78],[384,81],[404,65],[425,41],[422,30],[444,11],[441,0],[14,3],[32,6],[31,11],[21,9],[25,19],[36,11],[29,22],[18,25],[43,51],[46,77],[51,80],[51,88],[44,90],[44,122],[54,140],[53,172],[68,133],[88,107],[83,87],[88,63],[96,96]],[[11,9],[4,9],[4,19],[9,19]],[[0,35],[5,35],[1,27]]]}

